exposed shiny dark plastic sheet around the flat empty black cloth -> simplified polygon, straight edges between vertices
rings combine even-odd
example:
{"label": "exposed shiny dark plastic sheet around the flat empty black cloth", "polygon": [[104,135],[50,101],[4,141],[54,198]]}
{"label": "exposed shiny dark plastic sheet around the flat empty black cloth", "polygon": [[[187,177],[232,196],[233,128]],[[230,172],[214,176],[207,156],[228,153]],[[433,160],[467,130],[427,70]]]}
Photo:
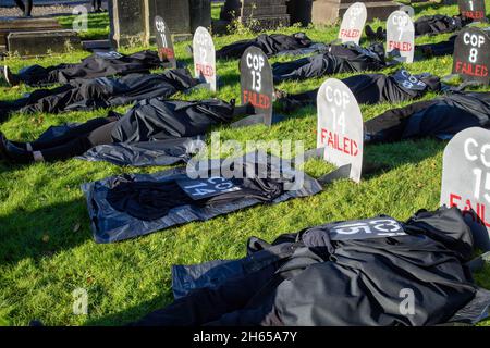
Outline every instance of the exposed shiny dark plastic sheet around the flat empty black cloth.
{"label": "exposed shiny dark plastic sheet around the flat empty black cloth", "polygon": [[[267,156],[266,160],[260,156],[246,154],[243,158],[244,165],[257,163],[270,163],[270,174],[280,176],[284,181],[296,181],[303,177],[303,185],[295,190],[284,190],[271,203],[279,203],[291,198],[306,197],[321,191],[321,185],[305,173],[284,166],[281,159]],[[279,164],[278,166],[278,163]],[[220,166],[220,161],[213,161],[210,169]],[[286,173],[286,175],[284,175]],[[287,178],[286,178],[287,177]],[[175,182],[187,178],[186,167],[176,167],[154,174],[126,174],[125,181],[133,182]],[[94,238],[97,243],[113,243],[150,234],[152,232],[169,228],[171,226],[193,222],[206,221],[218,215],[226,214],[238,209],[252,207],[262,201],[258,199],[241,199],[212,207],[198,207],[194,204],[180,206],[171,209],[169,213],[152,221],[135,219],[125,212],[118,211],[108,201],[109,191],[121,179],[121,176],[112,176],[98,182],[82,185],[87,201],[88,214],[91,222]]]}

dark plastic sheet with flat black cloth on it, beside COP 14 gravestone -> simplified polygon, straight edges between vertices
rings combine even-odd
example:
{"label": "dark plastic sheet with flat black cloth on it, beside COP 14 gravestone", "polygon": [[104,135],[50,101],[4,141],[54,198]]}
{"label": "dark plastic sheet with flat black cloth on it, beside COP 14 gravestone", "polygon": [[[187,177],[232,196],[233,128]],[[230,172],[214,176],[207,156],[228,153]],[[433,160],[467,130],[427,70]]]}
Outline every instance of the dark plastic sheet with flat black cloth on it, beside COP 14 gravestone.
{"label": "dark plastic sheet with flat black cloth on it, beside COP 14 gravestone", "polygon": [[176,167],[82,185],[95,240],[119,241],[259,203],[315,195],[322,189],[316,179],[273,156],[246,154],[232,162],[236,173],[248,174],[230,179],[213,176],[220,161],[212,161],[209,178],[189,179],[186,167]]}

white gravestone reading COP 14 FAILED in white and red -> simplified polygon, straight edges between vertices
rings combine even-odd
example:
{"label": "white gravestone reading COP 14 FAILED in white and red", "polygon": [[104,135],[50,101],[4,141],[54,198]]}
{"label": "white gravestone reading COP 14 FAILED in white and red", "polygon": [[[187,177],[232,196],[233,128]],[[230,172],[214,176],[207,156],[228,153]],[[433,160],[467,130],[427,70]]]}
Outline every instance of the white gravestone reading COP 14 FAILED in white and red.
{"label": "white gravestone reading COP 14 FAILED in white and red", "polygon": [[318,91],[317,108],[317,148],[324,148],[327,162],[351,164],[350,178],[360,182],[364,122],[356,98],[344,83],[329,78]]}

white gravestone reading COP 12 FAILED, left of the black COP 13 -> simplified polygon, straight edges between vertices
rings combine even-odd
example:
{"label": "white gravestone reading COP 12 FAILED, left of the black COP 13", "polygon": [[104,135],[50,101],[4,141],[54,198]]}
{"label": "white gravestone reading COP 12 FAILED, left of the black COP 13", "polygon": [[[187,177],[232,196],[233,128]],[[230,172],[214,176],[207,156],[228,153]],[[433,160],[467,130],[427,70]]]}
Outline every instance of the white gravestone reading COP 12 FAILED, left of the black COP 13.
{"label": "white gravestone reading COP 12 FAILED, left of the black COP 13", "polygon": [[209,32],[199,26],[194,34],[194,73],[196,78],[209,84],[209,89],[216,91],[216,50]]}

